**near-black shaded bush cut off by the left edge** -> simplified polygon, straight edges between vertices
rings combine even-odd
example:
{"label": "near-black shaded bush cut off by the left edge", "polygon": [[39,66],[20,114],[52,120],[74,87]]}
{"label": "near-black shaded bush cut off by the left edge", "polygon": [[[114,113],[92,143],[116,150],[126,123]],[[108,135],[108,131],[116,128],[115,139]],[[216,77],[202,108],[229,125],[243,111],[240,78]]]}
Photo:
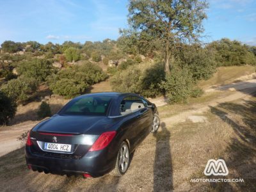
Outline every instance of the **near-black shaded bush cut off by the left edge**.
{"label": "near-black shaded bush cut off by the left edge", "polygon": [[16,109],[17,104],[0,91],[0,125],[7,124],[8,120],[15,115]]}

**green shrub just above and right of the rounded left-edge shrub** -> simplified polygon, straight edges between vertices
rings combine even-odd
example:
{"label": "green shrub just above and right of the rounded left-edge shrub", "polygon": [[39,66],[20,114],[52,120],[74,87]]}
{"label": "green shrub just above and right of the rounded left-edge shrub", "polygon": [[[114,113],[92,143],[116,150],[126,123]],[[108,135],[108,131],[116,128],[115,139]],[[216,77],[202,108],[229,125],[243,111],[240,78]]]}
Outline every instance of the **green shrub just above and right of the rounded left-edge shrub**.
{"label": "green shrub just above and right of the rounded left-edge shrub", "polygon": [[52,64],[45,59],[33,59],[24,61],[17,67],[19,75],[33,77],[36,81],[42,82],[46,77],[52,74]]}

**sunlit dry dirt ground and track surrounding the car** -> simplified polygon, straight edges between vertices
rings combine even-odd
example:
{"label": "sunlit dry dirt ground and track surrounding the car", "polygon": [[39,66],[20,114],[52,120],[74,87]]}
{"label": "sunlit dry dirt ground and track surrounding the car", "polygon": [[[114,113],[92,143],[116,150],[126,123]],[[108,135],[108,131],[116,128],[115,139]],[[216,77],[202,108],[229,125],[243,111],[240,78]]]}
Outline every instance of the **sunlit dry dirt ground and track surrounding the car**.
{"label": "sunlit dry dirt ground and track surrounding the car", "polygon": [[[123,177],[83,179],[31,172],[24,148],[19,148],[15,138],[38,121],[5,127],[0,131],[1,191],[256,191],[255,95],[256,79],[252,79],[208,88],[205,100],[180,109],[163,106],[163,97],[155,99],[161,127],[136,149]],[[52,105],[58,108],[61,102],[56,99]],[[190,182],[206,178],[205,164],[219,158],[227,163],[225,178],[243,178],[244,182]]]}

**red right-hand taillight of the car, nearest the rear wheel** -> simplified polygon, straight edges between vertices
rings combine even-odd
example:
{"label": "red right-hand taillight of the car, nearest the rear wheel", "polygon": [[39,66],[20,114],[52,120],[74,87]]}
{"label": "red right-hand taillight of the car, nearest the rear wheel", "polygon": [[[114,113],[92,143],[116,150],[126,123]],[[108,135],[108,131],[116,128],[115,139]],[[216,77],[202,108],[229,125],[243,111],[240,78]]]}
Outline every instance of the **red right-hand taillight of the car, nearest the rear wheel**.
{"label": "red right-hand taillight of the car, nearest the rear wheel", "polygon": [[109,131],[102,133],[99,138],[93,143],[89,151],[101,150],[108,146],[116,135],[116,131]]}

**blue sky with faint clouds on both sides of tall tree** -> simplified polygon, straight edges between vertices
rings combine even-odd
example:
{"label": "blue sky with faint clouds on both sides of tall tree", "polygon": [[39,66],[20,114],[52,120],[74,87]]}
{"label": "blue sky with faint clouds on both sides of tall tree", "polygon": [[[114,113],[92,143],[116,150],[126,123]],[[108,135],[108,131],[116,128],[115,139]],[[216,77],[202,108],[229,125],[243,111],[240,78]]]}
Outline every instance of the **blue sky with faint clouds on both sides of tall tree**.
{"label": "blue sky with faint clouds on both sides of tall tree", "polygon": [[[210,0],[207,42],[227,37],[256,45],[256,1]],[[84,43],[116,39],[127,28],[126,0],[0,0],[0,44],[4,40]]]}

